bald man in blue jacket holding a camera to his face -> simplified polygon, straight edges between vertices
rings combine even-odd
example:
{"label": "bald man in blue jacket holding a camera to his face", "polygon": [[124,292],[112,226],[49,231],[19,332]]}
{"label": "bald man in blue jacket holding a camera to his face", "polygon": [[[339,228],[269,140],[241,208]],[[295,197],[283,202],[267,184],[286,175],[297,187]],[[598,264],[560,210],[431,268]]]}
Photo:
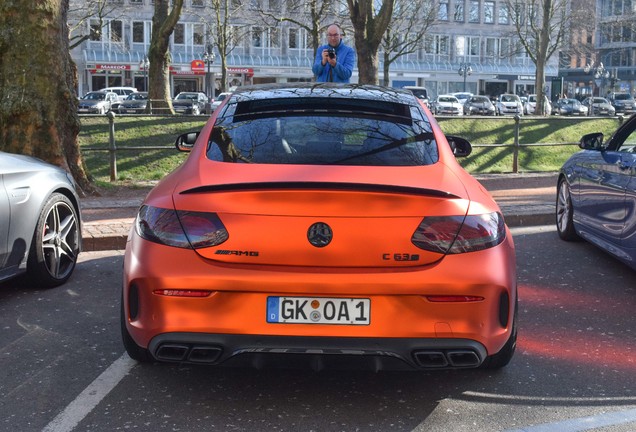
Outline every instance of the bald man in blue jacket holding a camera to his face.
{"label": "bald man in blue jacket holding a camera to his face", "polygon": [[316,51],[312,71],[318,82],[348,83],[353,72],[355,52],[342,41],[342,29],[338,24],[327,28],[327,44]]}

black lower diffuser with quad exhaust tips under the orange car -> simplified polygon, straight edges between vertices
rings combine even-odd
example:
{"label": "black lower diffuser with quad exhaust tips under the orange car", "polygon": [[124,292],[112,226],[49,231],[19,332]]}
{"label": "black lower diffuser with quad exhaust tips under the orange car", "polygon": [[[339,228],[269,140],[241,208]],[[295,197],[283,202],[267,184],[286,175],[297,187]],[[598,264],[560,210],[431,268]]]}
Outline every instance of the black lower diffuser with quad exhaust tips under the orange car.
{"label": "black lower diffuser with quad exhaust tips under the orange car", "polygon": [[481,365],[483,345],[466,339],[325,338],[166,333],[149,345],[158,361],[206,365],[373,370],[461,369]]}

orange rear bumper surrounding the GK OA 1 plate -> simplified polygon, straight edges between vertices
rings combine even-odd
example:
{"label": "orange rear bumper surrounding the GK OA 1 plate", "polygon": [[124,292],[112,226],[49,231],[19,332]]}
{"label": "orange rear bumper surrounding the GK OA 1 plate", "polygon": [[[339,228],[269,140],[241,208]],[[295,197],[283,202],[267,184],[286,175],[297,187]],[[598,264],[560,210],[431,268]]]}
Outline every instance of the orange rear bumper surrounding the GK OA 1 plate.
{"label": "orange rear bumper surrounding the GK OA 1 plate", "polygon": [[[244,350],[262,349],[260,354],[270,357],[271,349],[353,349],[362,352],[360,357],[395,357],[413,365],[417,348],[442,350],[437,357],[444,367],[454,362],[444,350],[470,351],[466,357],[476,359],[469,363],[477,366],[509,339],[517,298],[509,233],[497,247],[449,255],[431,265],[336,270],[218,264],[133,234],[126,248],[123,287],[128,332],[137,345],[164,361],[170,356],[157,354],[160,347],[176,345],[174,351],[183,356],[173,361],[193,361],[189,351],[203,344],[220,348],[218,361]],[[206,290],[210,295],[156,293],[164,289]],[[483,300],[433,302],[427,297],[433,295]],[[370,324],[268,323],[269,296],[368,298]],[[371,355],[378,351],[386,355]],[[198,355],[195,351],[194,362]]]}

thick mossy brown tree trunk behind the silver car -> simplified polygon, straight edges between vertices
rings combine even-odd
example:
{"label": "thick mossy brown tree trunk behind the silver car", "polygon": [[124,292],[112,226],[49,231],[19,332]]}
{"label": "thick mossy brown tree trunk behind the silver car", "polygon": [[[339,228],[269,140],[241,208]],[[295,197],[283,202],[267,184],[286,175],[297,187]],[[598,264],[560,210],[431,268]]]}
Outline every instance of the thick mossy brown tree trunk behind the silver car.
{"label": "thick mossy brown tree trunk behind the silver car", "polygon": [[67,12],[68,0],[0,2],[0,150],[58,165],[89,194]]}

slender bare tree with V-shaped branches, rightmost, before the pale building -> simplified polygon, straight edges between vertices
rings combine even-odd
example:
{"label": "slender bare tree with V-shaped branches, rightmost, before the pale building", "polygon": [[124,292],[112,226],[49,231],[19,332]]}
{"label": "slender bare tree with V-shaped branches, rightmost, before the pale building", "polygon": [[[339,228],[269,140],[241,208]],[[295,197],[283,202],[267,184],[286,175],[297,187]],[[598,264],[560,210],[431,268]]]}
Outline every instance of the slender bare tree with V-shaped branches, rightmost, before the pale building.
{"label": "slender bare tree with V-shaped branches, rightmost, before the pale building", "polygon": [[537,112],[544,112],[545,66],[565,42],[568,0],[506,0],[521,47],[536,66]]}

